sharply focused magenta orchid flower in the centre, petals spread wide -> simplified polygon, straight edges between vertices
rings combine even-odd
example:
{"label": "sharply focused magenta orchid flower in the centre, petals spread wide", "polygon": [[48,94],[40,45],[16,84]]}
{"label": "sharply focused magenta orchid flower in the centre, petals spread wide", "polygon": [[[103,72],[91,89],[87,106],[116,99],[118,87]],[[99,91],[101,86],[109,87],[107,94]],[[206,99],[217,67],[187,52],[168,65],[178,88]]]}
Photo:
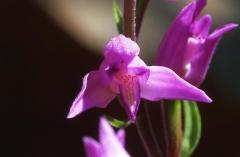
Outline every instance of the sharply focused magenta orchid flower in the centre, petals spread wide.
{"label": "sharply focused magenta orchid flower in the centre, petals spread wide", "polygon": [[93,107],[105,108],[117,95],[133,122],[140,98],[211,102],[202,90],[184,81],[172,70],[147,66],[138,57],[139,51],[138,45],[123,35],[112,38],[105,47],[99,70],[84,76],[82,90],[74,100],[68,118]]}

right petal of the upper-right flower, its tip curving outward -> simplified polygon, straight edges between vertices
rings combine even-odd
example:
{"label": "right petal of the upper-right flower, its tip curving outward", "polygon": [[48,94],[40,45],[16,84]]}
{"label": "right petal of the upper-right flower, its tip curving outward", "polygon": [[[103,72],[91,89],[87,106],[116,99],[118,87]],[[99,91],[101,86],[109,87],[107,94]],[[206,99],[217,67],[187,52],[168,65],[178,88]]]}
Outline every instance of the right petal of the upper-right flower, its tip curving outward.
{"label": "right petal of the upper-right flower, its tip curving outward", "polygon": [[192,56],[191,68],[186,80],[194,85],[200,85],[206,77],[212,56],[224,33],[236,28],[236,24],[228,24],[214,31],[199,49],[199,52]]}

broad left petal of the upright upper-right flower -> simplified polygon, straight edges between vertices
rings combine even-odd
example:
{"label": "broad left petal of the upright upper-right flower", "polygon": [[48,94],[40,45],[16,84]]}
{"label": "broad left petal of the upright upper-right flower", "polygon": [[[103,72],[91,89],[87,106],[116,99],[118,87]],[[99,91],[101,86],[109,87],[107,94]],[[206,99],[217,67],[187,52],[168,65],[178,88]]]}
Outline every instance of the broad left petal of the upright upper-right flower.
{"label": "broad left petal of the upright upper-right flower", "polygon": [[193,21],[196,3],[190,3],[181,10],[161,41],[157,64],[181,73],[182,60]]}

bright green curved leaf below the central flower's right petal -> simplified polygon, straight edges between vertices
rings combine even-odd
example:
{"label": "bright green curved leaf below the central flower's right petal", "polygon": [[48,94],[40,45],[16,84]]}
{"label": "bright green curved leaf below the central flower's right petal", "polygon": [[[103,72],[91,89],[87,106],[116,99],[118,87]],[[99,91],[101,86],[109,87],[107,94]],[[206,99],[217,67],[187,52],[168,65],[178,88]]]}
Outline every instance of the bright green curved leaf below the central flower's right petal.
{"label": "bright green curved leaf below the central flower's right petal", "polygon": [[201,116],[196,102],[182,101],[184,114],[184,135],[181,157],[189,157],[201,137]]}

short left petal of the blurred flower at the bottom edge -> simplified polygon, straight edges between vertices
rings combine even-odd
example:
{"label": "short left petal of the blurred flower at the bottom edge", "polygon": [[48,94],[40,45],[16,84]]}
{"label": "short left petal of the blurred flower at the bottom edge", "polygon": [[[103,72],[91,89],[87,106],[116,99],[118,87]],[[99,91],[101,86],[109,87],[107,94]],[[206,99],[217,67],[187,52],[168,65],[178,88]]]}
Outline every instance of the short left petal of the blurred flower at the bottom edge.
{"label": "short left petal of the blurred flower at the bottom edge", "polygon": [[91,137],[84,137],[83,143],[87,157],[105,157],[100,144]]}

